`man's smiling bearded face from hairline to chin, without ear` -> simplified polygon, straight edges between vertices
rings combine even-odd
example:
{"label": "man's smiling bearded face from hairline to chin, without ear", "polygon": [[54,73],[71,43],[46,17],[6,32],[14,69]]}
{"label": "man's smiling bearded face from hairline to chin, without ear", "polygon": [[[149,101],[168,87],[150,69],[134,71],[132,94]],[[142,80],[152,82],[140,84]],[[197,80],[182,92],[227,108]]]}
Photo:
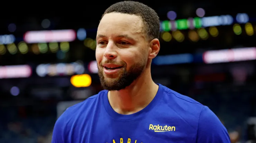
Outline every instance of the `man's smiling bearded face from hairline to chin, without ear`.
{"label": "man's smiling bearded face from hairline to chin, without ear", "polygon": [[142,28],[136,15],[108,13],[101,19],[95,56],[104,89],[124,89],[145,69],[149,42]]}

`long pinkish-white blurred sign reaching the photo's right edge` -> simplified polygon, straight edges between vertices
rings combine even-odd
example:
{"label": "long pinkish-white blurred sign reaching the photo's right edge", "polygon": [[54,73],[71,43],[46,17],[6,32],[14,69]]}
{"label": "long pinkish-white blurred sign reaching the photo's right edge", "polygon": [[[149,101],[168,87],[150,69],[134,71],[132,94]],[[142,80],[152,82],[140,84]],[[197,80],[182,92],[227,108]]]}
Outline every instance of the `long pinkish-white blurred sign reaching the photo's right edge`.
{"label": "long pinkish-white blurred sign reaching the photo's right edge", "polygon": [[250,61],[256,59],[256,47],[214,50],[203,53],[203,61],[207,64]]}

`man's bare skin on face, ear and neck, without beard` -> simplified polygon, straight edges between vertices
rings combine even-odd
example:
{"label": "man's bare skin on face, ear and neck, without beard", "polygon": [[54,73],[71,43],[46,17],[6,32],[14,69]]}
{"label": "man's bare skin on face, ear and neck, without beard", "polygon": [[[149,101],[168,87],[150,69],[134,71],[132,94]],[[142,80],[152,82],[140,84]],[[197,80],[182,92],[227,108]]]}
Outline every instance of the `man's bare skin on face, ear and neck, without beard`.
{"label": "man's bare skin on face, ear and neck, without beard", "polygon": [[[95,56],[99,71],[103,70],[102,64],[106,61],[125,64],[127,71],[136,63],[144,64],[143,72],[132,84],[125,89],[108,92],[113,110],[120,114],[132,114],[145,108],[158,90],[158,85],[152,80],[150,67],[152,59],[159,52],[159,40],[147,38],[139,16],[123,13],[105,14],[98,26],[96,40]],[[116,82],[120,76],[120,73],[102,74],[106,83]]]}

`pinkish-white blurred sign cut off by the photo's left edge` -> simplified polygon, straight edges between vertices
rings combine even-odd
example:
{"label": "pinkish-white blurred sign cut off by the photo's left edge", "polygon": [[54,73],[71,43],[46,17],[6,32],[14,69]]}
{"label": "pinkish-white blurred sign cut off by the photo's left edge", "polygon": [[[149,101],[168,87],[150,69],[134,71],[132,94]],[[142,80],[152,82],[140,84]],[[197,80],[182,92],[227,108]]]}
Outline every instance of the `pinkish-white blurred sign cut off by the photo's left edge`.
{"label": "pinkish-white blurred sign cut off by the photo's left edge", "polygon": [[0,66],[0,78],[26,78],[31,74],[29,65]]}

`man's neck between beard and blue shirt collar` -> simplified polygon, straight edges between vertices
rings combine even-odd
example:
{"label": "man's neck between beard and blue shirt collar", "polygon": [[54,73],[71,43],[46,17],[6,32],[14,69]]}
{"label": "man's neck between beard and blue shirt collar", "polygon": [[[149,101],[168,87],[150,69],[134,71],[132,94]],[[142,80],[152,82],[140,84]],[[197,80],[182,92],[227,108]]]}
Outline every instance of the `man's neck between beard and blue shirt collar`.
{"label": "man's neck between beard and blue shirt collar", "polygon": [[155,97],[158,85],[154,83],[150,68],[146,68],[130,86],[119,91],[109,91],[111,107],[120,114],[132,114],[145,108]]}

